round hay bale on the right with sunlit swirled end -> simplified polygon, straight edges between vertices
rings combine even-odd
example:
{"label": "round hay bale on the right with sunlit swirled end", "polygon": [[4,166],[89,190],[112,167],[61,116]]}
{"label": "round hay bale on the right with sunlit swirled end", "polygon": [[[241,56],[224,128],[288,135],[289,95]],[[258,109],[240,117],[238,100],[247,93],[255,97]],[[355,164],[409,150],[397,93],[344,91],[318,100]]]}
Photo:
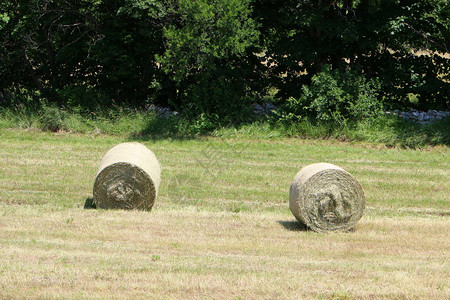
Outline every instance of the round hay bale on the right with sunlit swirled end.
{"label": "round hay bale on the right with sunlit swirled end", "polygon": [[297,173],[289,191],[295,218],[314,231],[348,230],[362,217],[364,192],[347,171],[328,163]]}

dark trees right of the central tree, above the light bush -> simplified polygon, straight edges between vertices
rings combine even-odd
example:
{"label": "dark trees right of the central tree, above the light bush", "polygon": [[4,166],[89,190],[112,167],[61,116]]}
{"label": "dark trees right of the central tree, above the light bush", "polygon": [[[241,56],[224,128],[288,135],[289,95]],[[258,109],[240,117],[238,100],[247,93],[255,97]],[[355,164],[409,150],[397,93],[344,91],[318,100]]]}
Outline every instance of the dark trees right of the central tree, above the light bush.
{"label": "dark trees right of the central tree, above the light bush", "polygon": [[449,51],[449,1],[260,0],[255,9],[284,97],[299,97],[328,64],[379,78],[390,104],[411,106],[408,93],[419,95],[418,108],[450,103],[450,64],[436,54]]}

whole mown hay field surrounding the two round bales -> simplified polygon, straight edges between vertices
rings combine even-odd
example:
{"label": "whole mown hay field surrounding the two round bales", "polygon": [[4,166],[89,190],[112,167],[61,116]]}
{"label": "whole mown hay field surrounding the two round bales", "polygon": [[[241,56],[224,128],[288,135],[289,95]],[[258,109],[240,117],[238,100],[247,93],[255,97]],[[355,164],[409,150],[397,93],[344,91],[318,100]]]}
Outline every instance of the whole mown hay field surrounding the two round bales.
{"label": "whole mown hay field surrounding the two round bales", "polygon": [[[242,138],[141,140],[152,212],[83,209],[126,137],[0,129],[0,299],[449,299],[450,149]],[[289,185],[354,175],[351,232],[304,230]]]}

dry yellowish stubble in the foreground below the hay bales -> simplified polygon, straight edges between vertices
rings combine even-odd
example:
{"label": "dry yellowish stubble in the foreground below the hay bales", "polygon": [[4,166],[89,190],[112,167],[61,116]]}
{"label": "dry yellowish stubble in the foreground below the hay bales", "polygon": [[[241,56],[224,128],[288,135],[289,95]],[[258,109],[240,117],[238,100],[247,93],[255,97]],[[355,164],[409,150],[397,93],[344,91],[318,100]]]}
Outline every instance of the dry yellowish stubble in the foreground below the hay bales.
{"label": "dry yellowish stubble in the foreground below the hay bales", "polygon": [[445,217],[317,234],[280,213],[0,209],[3,298],[450,296]]}

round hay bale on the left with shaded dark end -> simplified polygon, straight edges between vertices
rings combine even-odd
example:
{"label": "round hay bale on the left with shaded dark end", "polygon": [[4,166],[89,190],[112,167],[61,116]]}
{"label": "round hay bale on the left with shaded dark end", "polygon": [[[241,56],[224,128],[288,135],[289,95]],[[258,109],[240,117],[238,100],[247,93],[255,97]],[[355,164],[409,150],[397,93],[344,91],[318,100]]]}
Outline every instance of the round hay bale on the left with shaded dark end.
{"label": "round hay bale on the left with shaded dark end", "polygon": [[94,182],[99,208],[151,210],[161,181],[155,154],[139,143],[111,148],[100,162]]}

